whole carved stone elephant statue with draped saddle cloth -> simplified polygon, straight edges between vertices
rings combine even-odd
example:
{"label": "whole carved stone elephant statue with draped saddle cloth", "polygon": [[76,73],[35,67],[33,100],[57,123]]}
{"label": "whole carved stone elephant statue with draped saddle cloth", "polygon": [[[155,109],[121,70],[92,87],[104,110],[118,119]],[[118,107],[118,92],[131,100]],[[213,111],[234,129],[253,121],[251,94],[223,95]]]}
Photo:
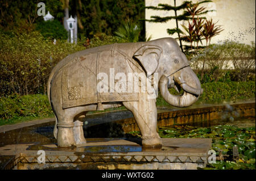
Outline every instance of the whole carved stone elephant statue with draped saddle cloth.
{"label": "whole carved stone elephant statue with draped saddle cloth", "polygon": [[[168,88],[183,94],[172,95]],[[48,79],[60,147],[86,145],[82,122],[88,111],[125,106],[133,112],[142,145],[161,146],[157,127],[158,90],[173,106],[187,107],[202,94],[200,81],[175,39],[121,43],[85,49],[61,60]]]}

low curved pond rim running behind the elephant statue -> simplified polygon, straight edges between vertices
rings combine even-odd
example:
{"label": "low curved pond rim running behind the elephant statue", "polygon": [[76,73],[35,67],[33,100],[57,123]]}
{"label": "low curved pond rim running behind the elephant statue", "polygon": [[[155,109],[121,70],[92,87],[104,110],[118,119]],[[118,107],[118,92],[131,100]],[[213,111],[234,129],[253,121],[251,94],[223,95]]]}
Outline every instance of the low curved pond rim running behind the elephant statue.
{"label": "low curved pond rim running behind the elephant statue", "polygon": [[[191,106],[191,107],[188,107],[188,108],[174,108],[174,107],[164,107],[164,108],[158,108],[158,116],[160,116],[161,114],[164,114],[165,112],[171,112],[171,111],[181,111],[181,110],[186,110],[186,111],[189,111],[189,110],[195,110],[195,109],[202,109],[202,108],[209,108],[209,107],[223,107],[223,106],[238,106],[238,105],[249,105],[249,104],[254,104],[254,109],[255,109],[255,99],[254,100],[248,100],[248,101],[243,101],[243,102],[224,102],[224,103],[220,103],[220,104],[199,104],[199,105],[196,105],[196,106]],[[117,112],[123,112],[123,111],[126,111],[127,110],[121,110],[121,111],[110,111],[110,112],[103,112],[103,113],[95,113],[95,114],[90,114],[90,115],[86,115],[86,118],[89,117],[89,120],[90,119],[96,119],[96,122],[98,123],[92,123],[92,125],[95,125],[95,124],[101,124],[101,120],[97,121],[97,117],[94,117],[94,115],[107,115],[106,113],[117,113]],[[122,117],[122,119],[130,119],[133,117],[132,113],[126,113],[125,115],[122,114],[122,116],[125,116],[125,117]],[[91,118],[90,118],[91,117]],[[108,117],[108,116],[107,116]],[[113,116],[110,116],[110,117],[113,117]],[[119,117],[116,117],[117,119],[115,120],[112,120],[112,121],[117,121],[119,119]],[[106,120],[106,119],[104,119]],[[120,119],[121,120],[121,117]],[[14,129],[20,129],[20,128],[24,128],[24,127],[30,127],[32,125],[38,125],[38,124],[43,124],[43,123],[49,123],[49,122],[53,122],[55,121],[55,117],[51,117],[51,118],[46,118],[46,119],[40,119],[40,120],[32,120],[32,121],[28,121],[28,122],[23,122],[23,123],[16,123],[16,124],[10,124],[10,125],[2,125],[0,126],[0,133],[2,132],[7,132],[7,131],[11,131],[11,130],[14,130]],[[108,121],[108,122],[111,122],[111,121]],[[105,122],[106,123],[106,122]],[[89,126],[89,125],[87,125]],[[85,126],[85,127],[87,127]]]}

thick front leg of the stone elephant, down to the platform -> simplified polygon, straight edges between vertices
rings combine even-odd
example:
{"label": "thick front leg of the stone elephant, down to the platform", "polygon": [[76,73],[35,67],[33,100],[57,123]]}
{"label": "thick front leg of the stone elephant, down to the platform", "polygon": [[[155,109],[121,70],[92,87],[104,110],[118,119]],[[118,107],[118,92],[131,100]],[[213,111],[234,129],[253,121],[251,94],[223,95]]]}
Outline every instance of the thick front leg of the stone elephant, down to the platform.
{"label": "thick front leg of the stone elephant, down to the platform", "polygon": [[158,147],[162,145],[157,128],[156,99],[148,99],[147,94],[142,94],[139,101],[123,102],[123,105],[133,112],[139,130],[142,134],[142,145]]}

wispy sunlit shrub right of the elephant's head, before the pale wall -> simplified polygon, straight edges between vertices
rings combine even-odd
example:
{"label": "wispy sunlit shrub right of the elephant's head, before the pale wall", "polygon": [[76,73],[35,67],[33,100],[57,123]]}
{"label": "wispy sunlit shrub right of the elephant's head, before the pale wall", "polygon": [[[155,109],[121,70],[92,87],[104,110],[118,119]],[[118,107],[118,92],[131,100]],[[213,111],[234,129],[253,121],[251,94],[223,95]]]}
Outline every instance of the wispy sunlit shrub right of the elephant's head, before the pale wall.
{"label": "wispy sunlit shrub right of the elephant's head, before the pale wall", "polygon": [[255,44],[224,41],[209,45],[191,58],[191,67],[199,74],[201,81],[207,82],[207,77],[204,79],[209,76],[211,81],[216,82],[226,73],[225,69],[230,69],[228,61],[233,63],[236,70],[232,81],[246,81],[251,70],[255,68]]}

